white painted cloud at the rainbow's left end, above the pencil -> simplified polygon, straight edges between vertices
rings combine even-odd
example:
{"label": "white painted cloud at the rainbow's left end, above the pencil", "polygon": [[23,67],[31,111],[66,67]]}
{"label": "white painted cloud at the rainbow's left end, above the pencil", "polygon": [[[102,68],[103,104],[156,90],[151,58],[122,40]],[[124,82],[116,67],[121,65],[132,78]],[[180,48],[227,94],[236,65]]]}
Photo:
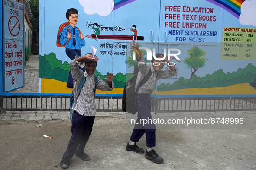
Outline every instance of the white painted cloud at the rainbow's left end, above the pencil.
{"label": "white painted cloud at the rainbow's left end, above the pencil", "polygon": [[114,8],[114,0],[79,0],[79,3],[84,7],[84,13],[89,15],[107,16]]}

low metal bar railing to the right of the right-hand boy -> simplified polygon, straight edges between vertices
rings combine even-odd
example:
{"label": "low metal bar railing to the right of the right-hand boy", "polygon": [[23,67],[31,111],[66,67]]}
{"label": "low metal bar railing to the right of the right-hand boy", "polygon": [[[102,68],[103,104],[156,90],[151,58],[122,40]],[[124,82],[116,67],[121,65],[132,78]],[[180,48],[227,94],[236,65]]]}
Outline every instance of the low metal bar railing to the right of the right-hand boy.
{"label": "low metal bar railing to the right of the right-hand boy", "polygon": [[256,97],[157,98],[156,112],[256,110]]}

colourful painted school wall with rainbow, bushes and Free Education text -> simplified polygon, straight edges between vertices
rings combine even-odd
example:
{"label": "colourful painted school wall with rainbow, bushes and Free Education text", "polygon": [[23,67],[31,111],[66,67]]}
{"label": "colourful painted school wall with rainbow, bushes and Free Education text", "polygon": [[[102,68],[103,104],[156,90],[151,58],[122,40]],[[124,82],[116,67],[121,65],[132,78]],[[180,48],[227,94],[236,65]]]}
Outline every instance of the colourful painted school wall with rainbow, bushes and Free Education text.
{"label": "colourful painted school wall with rainbow, bushes and Free Education text", "polygon": [[[148,47],[152,53],[154,48],[162,54],[168,48],[181,51],[178,55],[181,61],[171,57],[178,68],[177,76],[159,80],[154,93],[256,94],[256,89],[248,85],[256,78],[256,19],[253,17],[256,0],[97,1],[40,0],[41,92],[71,93],[72,89],[66,87],[70,59],[64,47],[57,47],[56,39],[59,26],[67,22],[67,9],[75,8],[79,12],[76,26],[86,42],[82,54],[95,47],[100,58],[95,74],[102,79],[107,72],[117,75],[116,88],[107,93],[121,94],[126,77],[133,75],[133,63],[128,57],[132,57],[129,42],[132,42],[133,31],[130,29],[136,25],[141,47]],[[88,23],[100,26],[97,41]]]}

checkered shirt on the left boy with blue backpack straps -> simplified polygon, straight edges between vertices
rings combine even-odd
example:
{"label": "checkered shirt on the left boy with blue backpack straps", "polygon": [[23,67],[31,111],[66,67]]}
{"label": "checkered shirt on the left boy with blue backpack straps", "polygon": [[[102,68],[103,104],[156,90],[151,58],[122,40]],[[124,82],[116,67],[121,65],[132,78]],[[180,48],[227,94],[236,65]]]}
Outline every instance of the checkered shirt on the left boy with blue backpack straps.
{"label": "checkered shirt on the left boy with blue backpack straps", "polygon": [[[81,61],[81,62],[75,61],[75,59],[70,62],[70,69],[71,69],[72,77],[74,80],[74,100],[77,101],[76,106],[73,106],[73,107],[74,107],[74,110],[81,115],[84,114],[84,116],[95,116],[96,105],[95,105],[95,99],[94,99],[94,88],[95,88],[94,74],[88,75],[87,72],[83,72],[81,69],[79,69],[78,65],[83,68],[85,66],[85,63],[84,61]],[[80,95],[77,98],[76,97],[77,88],[81,81],[82,76],[86,77],[86,81],[84,83],[83,88],[81,89]],[[113,81],[112,81],[112,88],[110,88],[107,82],[104,82],[102,79],[100,79],[99,76],[97,76],[97,78],[98,78],[97,87],[96,87],[97,89],[103,90],[103,91],[111,91],[114,88]]]}

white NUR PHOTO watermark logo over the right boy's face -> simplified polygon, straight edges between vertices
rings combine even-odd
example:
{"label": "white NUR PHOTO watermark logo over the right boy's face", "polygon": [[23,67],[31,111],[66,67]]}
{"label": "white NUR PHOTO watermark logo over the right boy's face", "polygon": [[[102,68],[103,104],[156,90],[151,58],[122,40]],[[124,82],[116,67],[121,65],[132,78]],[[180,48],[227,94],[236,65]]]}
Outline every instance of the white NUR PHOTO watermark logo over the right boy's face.
{"label": "white NUR PHOTO watermark logo over the right boy's face", "polygon": [[[136,59],[136,53],[142,56],[142,53],[141,53],[141,51],[140,51],[139,49],[144,49],[144,50],[146,50],[146,53],[147,53],[147,60],[149,60],[149,61],[152,60],[152,52],[151,52],[151,50],[150,50],[149,48],[147,48],[147,47],[139,47],[139,48],[134,47],[134,50],[135,50],[135,51],[133,51],[133,60]],[[173,53],[174,51],[175,51],[175,52],[178,52],[178,53]],[[171,52],[172,52],[172,53],[171,53]],[[181,59],[178,57],[179,54],[181,54],[181,50],[179,50],[179,49],[177,49],[177,48],[168,48],[168,49],[167,49],[167,60],[170,61],[170,57],[171,57],[171,56],[174,56],[178,61],[181,61]],[[164,60],[165,57],[166,57],[166,48],[164,48],[164,56],[163,56],[162,58],[157,58],[157,57],[156,57],[156,49],[153,48],[153,57],[154,57],[155,60],[158,60],[158,61]],[[161,63],[165,64],[165,62],[161,62]],[[150,64],[150,65],[153,64],[154,66],[159,66],[161,63],[159,63],[159,62],[154,62],[154,63],[146,63],[146,64]],[[145,63],[144,63],[144,62],[139,62],[138,65],[140,65],[140,64],[143,65],[143,64],[145,64]],[[168,66],[174,66],[175,63],[174,63],[174,62],[169,62],[169,63],[167,63],[167,65],[168,65]]]}

